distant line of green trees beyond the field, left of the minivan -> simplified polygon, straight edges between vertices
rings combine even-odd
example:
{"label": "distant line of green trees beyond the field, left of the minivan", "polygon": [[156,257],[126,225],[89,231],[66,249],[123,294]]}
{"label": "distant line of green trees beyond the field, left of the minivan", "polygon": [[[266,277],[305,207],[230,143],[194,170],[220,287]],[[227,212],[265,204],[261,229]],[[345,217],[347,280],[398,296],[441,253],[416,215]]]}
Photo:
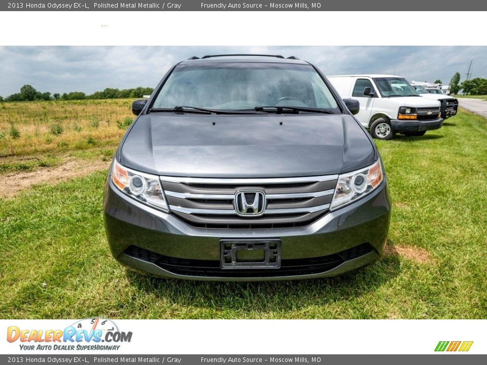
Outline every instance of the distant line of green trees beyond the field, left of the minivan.
{"label": "distant line of green trees beyond the field, left of the minivan", "polygon": [[31,85],[24,85],[20,92],[7,96],[5,99],[0,96],[0,101],[33,101],[33,100],[84,100],[84,99],[124,99],[124,98],[142,98],[144,95],[150,95],[154,91],[150,87],[136,87],[134,89],[114,89],[106,88],[103,91],[95,91],[91,95],[86,95],[82,91],[72,91],[69,93],[52,94],[50,92],[40,92]]}

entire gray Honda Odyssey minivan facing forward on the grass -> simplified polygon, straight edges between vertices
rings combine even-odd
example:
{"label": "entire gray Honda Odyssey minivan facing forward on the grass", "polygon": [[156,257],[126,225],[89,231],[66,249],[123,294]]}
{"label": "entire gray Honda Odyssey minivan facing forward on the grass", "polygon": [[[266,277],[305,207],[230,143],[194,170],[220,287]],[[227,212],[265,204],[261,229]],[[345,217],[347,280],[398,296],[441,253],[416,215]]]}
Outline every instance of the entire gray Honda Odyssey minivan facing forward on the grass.
{"label": "entire gray Honda Odyssey minivan facing forward on the grass", "polygon": [[160,277],[332,276],[377,260],[391,201],[375,144],[322,72],[295,57],[173,66],[113,159],[112,254]]}

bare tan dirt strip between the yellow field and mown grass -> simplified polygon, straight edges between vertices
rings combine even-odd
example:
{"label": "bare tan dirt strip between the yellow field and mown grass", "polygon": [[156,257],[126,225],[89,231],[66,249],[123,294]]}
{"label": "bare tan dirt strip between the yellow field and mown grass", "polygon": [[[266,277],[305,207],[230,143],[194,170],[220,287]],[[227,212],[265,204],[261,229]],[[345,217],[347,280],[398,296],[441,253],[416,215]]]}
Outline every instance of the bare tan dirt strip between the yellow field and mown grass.
{"label": "bare tan dirt strip between the yellow field and mown grass", "polygon": [[60,181],[107,169],[109,166],[110,161],[90,161],[70,157],[56,167],[41,167],[36,169],[36,171],[28,172],[11,172],[2,176],[9,183],[4,184],[0,190],[0,198],[13,197],[33,185],[57,184]]}

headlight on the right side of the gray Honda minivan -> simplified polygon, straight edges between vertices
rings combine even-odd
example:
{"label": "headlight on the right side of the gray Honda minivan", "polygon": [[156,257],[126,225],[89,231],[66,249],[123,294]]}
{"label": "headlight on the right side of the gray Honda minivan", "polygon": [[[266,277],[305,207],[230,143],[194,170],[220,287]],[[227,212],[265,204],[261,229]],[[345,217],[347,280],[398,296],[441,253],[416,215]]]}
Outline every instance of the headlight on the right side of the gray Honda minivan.
{"label": "headlight on the right side of the gray Honda minivan", "polygon": [[382,178],[380,161],[364,169],[338,175],[330,210],[350,204],[371,193],[379,186]]}

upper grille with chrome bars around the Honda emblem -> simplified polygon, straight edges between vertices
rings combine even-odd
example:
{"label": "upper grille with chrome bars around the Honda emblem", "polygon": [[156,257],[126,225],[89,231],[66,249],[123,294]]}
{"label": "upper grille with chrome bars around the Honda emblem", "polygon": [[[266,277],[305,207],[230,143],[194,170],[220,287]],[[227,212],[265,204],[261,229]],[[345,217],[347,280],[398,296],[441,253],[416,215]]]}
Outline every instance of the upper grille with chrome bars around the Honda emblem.
{"label": "upper grille with chrome bars around the Honda emblem", "polygon": [[[330,207],[337,175],[287,178],[194,178],[161,176],[171,213],[186,224],[209,229],[269,229],[307,226]],[[235,193],[265,195],[263,214],[241,216]]]}

